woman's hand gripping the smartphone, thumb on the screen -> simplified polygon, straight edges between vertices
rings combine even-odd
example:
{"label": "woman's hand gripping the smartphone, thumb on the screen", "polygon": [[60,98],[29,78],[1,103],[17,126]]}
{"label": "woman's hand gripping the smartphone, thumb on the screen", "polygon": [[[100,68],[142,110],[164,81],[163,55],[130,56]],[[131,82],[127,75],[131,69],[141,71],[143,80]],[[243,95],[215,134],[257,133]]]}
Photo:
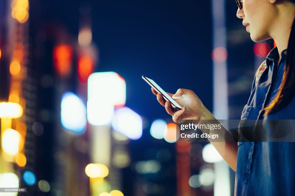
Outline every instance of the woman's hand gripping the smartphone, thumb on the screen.
{"label": "woman's hand gripping the smartphone, thumb on the screen", "polygon": [[200,120],[207,111],[199,97],[191,90],[178,89],[175,94],[167,93],[172,97],[181,107],[179,111],[174,111],[170,102],[163,99],[162,95],[155,91],[152,87],[153,94],[157,95],[158,102],[165,107],[168,114],[172,116],[174,122],[178,120]]}

